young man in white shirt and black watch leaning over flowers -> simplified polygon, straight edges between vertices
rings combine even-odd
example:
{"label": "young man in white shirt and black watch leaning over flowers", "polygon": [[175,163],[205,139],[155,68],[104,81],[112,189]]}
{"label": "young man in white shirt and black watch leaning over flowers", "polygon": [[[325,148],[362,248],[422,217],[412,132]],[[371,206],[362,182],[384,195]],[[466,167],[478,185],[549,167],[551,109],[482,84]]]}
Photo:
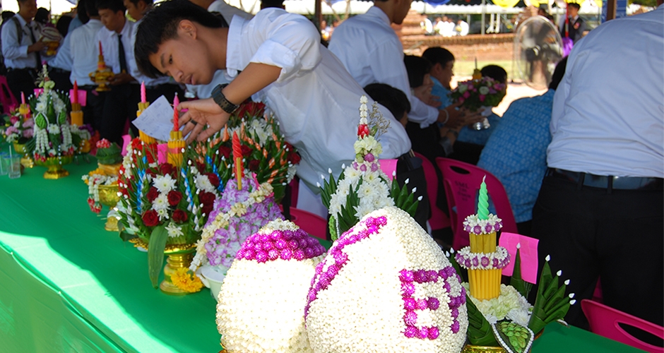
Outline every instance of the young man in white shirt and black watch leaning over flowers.
{"label": "young man in white shirt and black watch leaning over flowers", "polygon": [[[260,11],[250,21],[235,16],[230,28],[223,28],[198,6],[165,1],[139,26],[136,59],[148,76],[169,75],[180,83],[209,83],[215,71],[226,69],[235,79],[215,89],[213,99],[180,104],[189,109],[180,118],[184,133],[191,132],[187,140],[205,140],[226,124],[236,104],[249,97],[261,100],[302,155],[297,174],[316,192],[321,174],[329,168],[338,176],[341,164],[355,158],[357,109],[364,95],[320,40],[307,18],[278,8]],[[394,119],[384,107],[381,112]],[[403,126],[393,122],[381,136],[381,158],[410,150]]]}

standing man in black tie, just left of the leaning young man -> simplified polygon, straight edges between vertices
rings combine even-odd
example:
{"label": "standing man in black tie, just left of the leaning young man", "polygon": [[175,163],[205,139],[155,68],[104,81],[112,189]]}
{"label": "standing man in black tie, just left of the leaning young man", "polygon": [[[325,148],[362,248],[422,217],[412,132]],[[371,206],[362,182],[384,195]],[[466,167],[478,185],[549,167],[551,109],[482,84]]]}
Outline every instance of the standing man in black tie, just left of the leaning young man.
{"label": "standing man in black tie, just left of the leaning young man", "polygon": [[100,0],[97,11],[104,24],[97,40],[102,44],[106,66],[111,68],[115,76],[109,80],[111,90],[107,92],[102,124],[99,132],[101,138],[121,143],[122,132],[127,118],[136,116],[136,105],[130,107],[131,85],[136,79],[131,76],[129,62],[134,60],[131,54],[132,23],[124,17],[126,8],[122,0]]}

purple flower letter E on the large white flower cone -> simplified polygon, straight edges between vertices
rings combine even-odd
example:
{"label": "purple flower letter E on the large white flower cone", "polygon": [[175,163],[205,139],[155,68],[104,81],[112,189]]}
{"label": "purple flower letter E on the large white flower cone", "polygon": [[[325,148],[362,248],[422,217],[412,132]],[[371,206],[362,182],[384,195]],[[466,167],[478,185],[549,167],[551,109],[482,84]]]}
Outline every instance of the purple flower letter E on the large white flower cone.
{"label": "purple flower letter E on the large white flower cone", "polygon": [[[401,280],[401,297],[403,299],[403,322],[405,323],[405,330],[403,335],[408,338],[420,338],[421,340],[429,339],[435,340],[440,335],[440,329],[437,326],[426,327],[422,326],[417,328],[417,313],[415,310],[437,310],[440,306],[440,300],[434,297],[415,299],[415,283],[437,283],[440,279],[445,292],[449,294],[450,284],[449,279],[455,278],[461,282],[461,277],[456,273],[452,266],[447,266],[441,270],[406,270],[403,269],[399,272],[399,280]],[[458,297],[449,296],[450,302],[448,304],[452,316],[452,325],[450,330],[452,333],[458,333],[459,322],[457,320],[459,311],[458,308],[466,304],[466,289],[461,287],[461,294]]]}

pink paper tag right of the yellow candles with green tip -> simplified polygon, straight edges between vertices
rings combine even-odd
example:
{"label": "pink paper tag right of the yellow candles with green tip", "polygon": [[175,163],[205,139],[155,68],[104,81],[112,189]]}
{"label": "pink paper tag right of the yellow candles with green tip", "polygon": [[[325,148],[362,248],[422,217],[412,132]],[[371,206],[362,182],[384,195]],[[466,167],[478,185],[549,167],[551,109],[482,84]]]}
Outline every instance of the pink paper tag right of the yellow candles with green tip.
{"label": "pink paper tag right of the yellow candles with green tip", "polygon": [[509,252],[509,265],[503,268],[503,275],[511,276],[514,271],[514,259],[516,259],[516,244],[521,244],[519,256],[521,256],[521,278],[526,282],[537,283],[537,245],[539,240],[526,237],[525,235],[506,233],[500,234],[499,245]]}

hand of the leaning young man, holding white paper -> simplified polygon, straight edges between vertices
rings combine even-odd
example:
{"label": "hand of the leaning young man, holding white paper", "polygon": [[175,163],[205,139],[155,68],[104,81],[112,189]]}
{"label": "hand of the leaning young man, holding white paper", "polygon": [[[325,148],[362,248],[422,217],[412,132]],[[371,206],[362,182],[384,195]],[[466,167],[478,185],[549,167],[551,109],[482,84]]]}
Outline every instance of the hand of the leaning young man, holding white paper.
{"label": "hand of the leaning young man, holding white paper", "polygon": [[[230,118],[230,114],[224,112],[212,98],[182,102],[178,108],[189,109],[179,118],[180,125],[184,126],[182,134],[186,136],[191,132],[186,138],[186,143],[191,143],[194,138],[198,141],[206,140],[220,131]],[[203,130],[206,126],[208,128]]]}

